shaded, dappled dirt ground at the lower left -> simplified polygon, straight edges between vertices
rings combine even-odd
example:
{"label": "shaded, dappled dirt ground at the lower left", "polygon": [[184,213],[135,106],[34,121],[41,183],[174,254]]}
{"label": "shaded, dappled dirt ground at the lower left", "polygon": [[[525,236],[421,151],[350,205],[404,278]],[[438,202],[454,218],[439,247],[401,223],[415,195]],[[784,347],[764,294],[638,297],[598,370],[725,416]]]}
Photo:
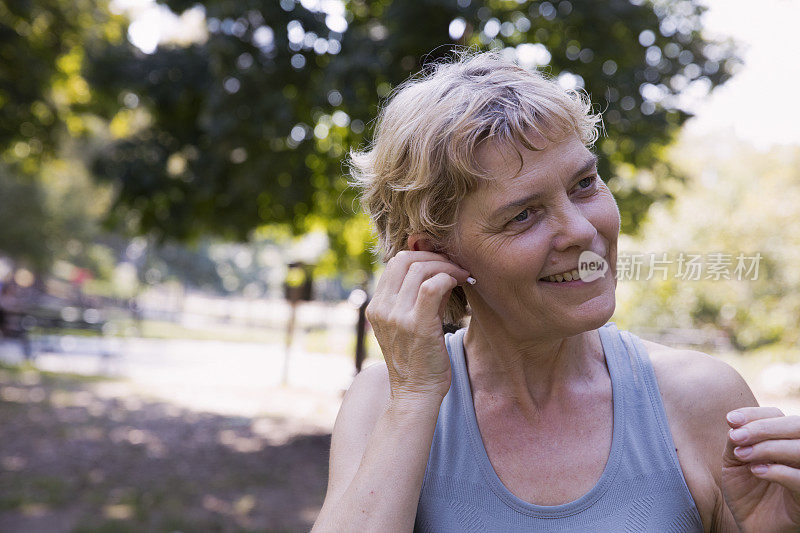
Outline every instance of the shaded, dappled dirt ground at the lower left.
{"label": "shaded, dappled dirt ground at the lower left", "polygon": [[[115,387],[108,394],[108,387]],[[0,531],[308,531],[328,431],[0,368]]]}

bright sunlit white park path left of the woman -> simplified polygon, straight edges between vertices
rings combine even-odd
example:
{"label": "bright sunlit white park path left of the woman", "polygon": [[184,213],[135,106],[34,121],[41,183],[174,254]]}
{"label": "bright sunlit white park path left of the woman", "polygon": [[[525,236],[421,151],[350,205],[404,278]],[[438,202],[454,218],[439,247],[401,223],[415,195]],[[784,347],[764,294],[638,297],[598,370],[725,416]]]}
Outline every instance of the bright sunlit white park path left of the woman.
{"label": "bright sunlit white park path left of the woman", "polygon": [[[286,352],[277,343],[139,338],[101,342],[71,337],[58,351],[38,353],[36,366],[122,378],[100,388],[110,396],[139,394],[222,415],[291,417],[328,431],[355,372],[351,357],[294,349],[283,384]],[[0,344],[0,360],[16,362],[20,357],[16,346]]]}

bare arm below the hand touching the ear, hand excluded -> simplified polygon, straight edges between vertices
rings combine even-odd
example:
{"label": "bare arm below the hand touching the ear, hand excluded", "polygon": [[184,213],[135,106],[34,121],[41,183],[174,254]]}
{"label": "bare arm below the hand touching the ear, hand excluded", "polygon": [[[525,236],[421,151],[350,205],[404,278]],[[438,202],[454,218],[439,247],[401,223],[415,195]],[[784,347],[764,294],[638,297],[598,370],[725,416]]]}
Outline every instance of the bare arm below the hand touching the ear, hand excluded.
{"label": "bare arm below the hand touching the ear, hand excluded", "polygon": [[389,401],[385,364],[361,372],[333,430],[324,531],[411,531],[441,398]]}

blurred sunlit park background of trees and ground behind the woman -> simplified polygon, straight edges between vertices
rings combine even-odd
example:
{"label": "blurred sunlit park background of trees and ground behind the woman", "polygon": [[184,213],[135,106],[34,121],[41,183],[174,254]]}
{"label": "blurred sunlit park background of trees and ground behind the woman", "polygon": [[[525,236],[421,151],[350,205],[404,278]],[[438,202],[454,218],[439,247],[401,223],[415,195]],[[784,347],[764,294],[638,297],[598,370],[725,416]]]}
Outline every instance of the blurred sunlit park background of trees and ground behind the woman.
{"label": "blurred sunlit park background of trees and ground behind the woman", "polygon": [[671,261],[621,279],[612,320],[800,413],[797,20],[792,0],[0,2],[0,530],[310,528],[341,395],[381,358],[344,157],[456,45],[603,112],[620,254]]}

